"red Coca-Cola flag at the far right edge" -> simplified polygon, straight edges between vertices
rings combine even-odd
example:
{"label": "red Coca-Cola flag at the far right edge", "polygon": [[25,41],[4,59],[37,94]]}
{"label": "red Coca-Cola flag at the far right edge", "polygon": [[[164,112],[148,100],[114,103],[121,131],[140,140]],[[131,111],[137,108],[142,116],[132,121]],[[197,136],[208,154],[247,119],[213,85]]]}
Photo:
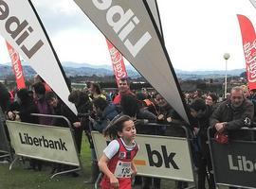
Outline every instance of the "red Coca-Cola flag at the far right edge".
{"label": "red Coca-Cola flag at the far right edge", "polygon": [[237,15],[247,64],[247,81],[249,90],[256,89],[256,35],[250,20],[241,14]]}

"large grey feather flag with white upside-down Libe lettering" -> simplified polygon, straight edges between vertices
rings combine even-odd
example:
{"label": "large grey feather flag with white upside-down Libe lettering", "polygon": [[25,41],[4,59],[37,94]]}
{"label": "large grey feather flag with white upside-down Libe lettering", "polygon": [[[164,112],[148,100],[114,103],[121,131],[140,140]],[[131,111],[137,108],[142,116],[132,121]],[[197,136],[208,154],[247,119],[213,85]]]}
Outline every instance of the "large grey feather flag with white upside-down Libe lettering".
{"label": "large grey feather flag with white upside-down Libe lettering", "polygon": [[75,0],[83,12],[184,120],[185,101],[150,9],[143,1]]}

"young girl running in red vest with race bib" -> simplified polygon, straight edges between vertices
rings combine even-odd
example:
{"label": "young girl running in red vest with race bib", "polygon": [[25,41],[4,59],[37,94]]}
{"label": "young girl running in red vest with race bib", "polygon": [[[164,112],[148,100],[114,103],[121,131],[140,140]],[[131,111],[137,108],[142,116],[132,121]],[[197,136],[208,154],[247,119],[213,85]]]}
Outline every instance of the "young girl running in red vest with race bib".
{"label": "young girl running in red vest with race bib", "polygon": [[101,188],[131,189],[131,177],[137,173],[133,163],[138,150],[134,122],[127,115],[115,117],[105,129],[104,135],[113,140],[103,150],[99,161],[99,167],[104,173]]}

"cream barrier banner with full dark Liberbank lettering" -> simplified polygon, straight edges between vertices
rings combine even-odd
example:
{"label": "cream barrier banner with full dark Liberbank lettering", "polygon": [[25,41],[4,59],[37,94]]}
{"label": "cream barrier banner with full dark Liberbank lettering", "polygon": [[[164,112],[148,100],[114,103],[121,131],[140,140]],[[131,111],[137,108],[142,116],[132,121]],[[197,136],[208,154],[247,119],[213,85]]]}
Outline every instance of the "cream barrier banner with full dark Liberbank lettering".
{"label": "cream barrier banner with full dark Liberbank lettering", "polygon": [[72,133],[68,128],[7,121],[15,154],[80,166]]}

